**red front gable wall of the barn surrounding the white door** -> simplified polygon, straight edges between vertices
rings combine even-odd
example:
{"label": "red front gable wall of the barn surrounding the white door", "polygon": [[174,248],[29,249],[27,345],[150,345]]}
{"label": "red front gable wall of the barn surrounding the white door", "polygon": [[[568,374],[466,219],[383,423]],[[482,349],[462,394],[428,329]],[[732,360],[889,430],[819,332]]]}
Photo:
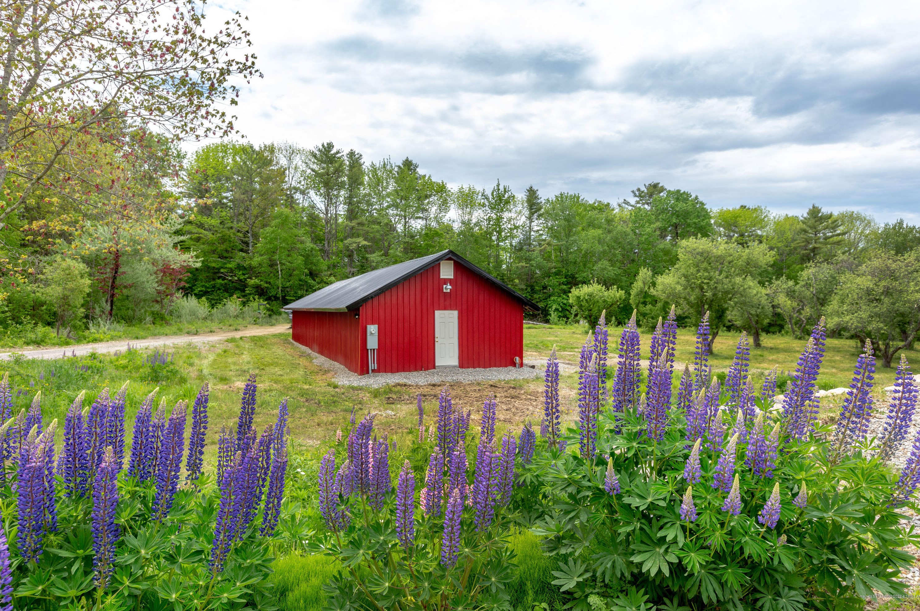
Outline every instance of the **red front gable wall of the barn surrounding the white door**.
{"label": "red front gable wall of the barn surrounding the white door", "polygon": [[[447,282],[450,293],[443,292]],[[441,278],[441,266],[434,265],[361,306],[361,318],[355,320],[360,352],[355,368],[316,352],[367,374],[365,328],[377,325],[377,372],[433,369],[435,310],[457,311],[460,367],[512,367],[515,356],[523,361],[523,305],[459,262],[452,279]]]}

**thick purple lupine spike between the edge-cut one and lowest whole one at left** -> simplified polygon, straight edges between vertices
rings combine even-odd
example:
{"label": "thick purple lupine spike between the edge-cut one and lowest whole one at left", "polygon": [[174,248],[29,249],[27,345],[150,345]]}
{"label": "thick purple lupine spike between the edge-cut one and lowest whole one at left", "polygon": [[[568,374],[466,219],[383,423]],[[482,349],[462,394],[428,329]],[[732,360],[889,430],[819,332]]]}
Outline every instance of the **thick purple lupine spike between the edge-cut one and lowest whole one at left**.
{"label": "thick purple lupine spike between the edge-cut one and lowest whole one at left", "polygon": [[19,458],[17,506],[19,509],[19,555],[26,562],[39,561],[44,545],[45,448],[35,440],[27,442]]}

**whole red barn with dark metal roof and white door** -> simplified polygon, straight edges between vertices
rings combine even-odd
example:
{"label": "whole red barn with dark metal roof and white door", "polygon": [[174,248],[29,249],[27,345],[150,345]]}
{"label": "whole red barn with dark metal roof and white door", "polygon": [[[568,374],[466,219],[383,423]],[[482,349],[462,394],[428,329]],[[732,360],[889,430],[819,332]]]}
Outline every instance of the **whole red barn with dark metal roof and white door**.
{"label": "whole red barn with dark metal roof and white door", "polygon": [[293,304],[292,339],[350,371],[523,363],[537,305],[451,250],[329,284]]}

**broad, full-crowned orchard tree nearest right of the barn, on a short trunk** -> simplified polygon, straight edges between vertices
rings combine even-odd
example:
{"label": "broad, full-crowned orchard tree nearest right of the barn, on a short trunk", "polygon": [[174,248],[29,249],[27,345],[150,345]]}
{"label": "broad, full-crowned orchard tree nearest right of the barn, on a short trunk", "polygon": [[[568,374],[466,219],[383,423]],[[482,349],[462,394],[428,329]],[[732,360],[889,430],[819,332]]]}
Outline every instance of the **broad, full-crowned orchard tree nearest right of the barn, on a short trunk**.
{"label": "broad, full-crowned orchard tree nearest right of the barn, on a short trunk", "polygon": [[710,351],[725,326],[732,302],[773,261],[764,245],[744,248],[706,237],[685,239],[677,247],[677,263],[661,274],[652,293],[696,321],[709,312]]}

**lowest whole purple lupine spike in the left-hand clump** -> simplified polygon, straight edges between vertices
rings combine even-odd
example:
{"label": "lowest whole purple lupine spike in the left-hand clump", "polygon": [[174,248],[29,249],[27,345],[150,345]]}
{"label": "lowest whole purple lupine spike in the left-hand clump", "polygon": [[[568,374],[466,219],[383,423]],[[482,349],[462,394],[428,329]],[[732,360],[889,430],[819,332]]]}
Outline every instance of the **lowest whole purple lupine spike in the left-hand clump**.
{"label": "lowest whole purple lupine spike in the left-hand clump", "polygon": [[121,538],[121,527],[115,524],[118,472],[115,454],[107,447],[93,482],[93,582],[101,590],[108,587],[115,572],[115,546]]}

